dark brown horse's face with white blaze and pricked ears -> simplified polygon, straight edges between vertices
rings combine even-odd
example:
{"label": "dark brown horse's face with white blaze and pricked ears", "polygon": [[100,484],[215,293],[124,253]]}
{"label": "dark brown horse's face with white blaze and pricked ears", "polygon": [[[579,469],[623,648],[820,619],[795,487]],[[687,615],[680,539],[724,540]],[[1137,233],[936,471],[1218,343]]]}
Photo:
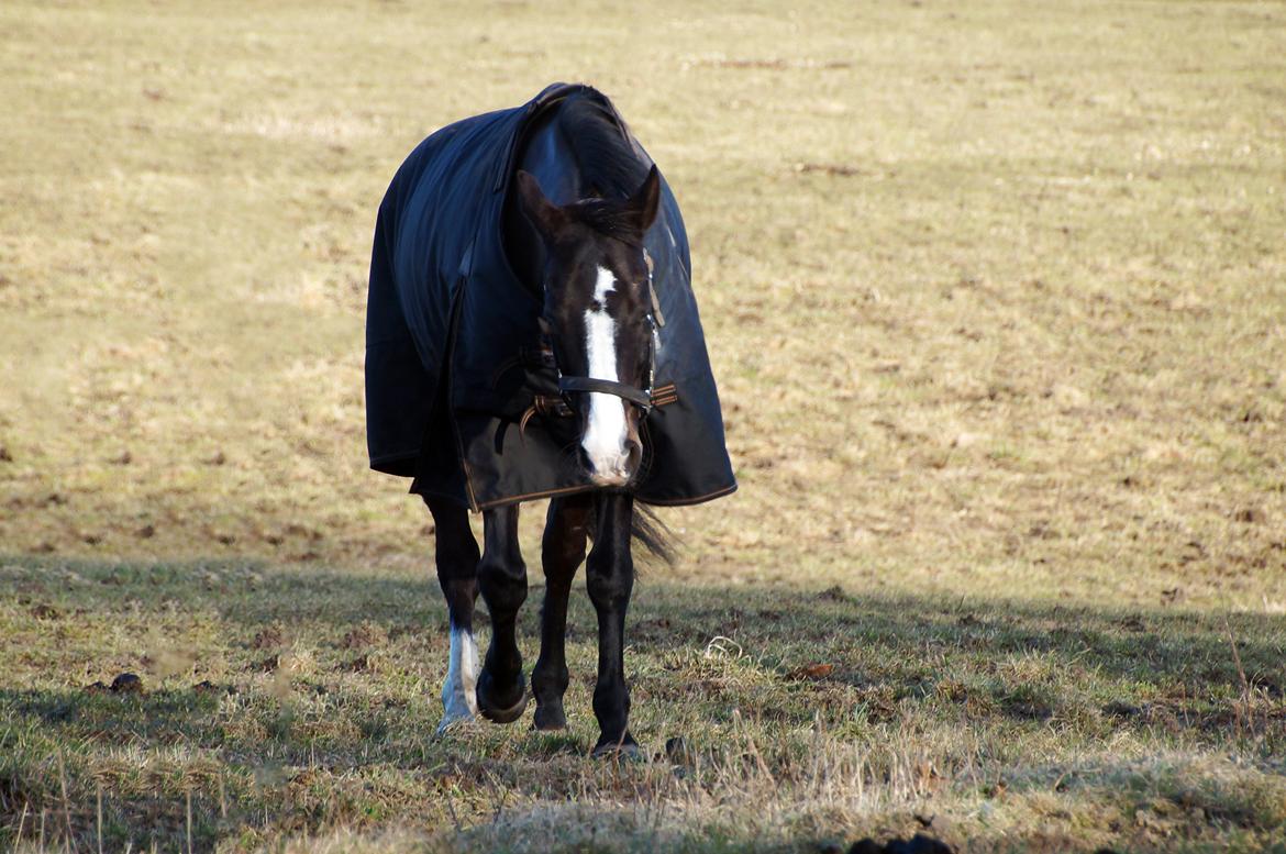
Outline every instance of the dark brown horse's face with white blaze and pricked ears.
{"label": "dark brown horse's face with white blaze and pricked ears", "polygon": [[[547,248],[541,327],[563,377],[638,390],[651,386],[656,327],[643,233],[656,217],[656,170],[625,201],[557,207],[520,172],[523,208]],[[580,457],[599,486],[626,486],[638,472],[639,405],[604,391],[570,392],[580,423]]]}

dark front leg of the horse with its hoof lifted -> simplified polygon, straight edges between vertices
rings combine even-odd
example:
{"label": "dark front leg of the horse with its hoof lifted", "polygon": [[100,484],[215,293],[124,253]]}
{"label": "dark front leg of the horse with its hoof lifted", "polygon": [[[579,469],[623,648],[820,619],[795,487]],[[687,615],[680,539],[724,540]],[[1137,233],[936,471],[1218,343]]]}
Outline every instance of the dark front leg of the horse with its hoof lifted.
{"label": "dark front leg of the horse with its hoof lifted", "polygon": [[518,547],[518,505],[486,511],[482,540],[478,588],[491,613],[491,646],[478,675],[478,711],[487,720],[507,724],[527,707],[516,635],[518,608],[527,598],[527,566]]}

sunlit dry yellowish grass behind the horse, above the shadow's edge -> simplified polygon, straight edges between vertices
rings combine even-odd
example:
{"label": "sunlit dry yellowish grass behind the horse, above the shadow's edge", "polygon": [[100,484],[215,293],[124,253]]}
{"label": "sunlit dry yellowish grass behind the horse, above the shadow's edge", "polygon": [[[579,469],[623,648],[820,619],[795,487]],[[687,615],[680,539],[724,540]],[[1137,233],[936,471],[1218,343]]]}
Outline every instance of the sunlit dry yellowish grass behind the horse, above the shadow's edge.
{"label": "sunlit dry yellowish grass behind the horse, above the shadow's edge", "polygon": [[693,575],[1286,601],[1272,6],[4,15],[10,550],[423,554],[364,467],[372,212],[562,77],[691,224],[743,482]]}

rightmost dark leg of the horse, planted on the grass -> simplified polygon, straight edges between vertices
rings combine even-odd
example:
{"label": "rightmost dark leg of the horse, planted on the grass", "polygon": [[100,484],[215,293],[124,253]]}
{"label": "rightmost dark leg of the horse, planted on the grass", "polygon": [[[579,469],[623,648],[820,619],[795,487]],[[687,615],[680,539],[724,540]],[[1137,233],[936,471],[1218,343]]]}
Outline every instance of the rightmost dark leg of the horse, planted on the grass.
{"label": "rightmost dark leg of the horse, planted on the grass", "polygon": [[594,755],[638,755],[630,736],[630,692],[625,687],[625,612],[634,589],[634,558],[630,556],[630,522],[634,496],[601,493],[594,548],[585,563],[585,584],[598,611],[598,683],[594,686],[594,716],[601,731]]}

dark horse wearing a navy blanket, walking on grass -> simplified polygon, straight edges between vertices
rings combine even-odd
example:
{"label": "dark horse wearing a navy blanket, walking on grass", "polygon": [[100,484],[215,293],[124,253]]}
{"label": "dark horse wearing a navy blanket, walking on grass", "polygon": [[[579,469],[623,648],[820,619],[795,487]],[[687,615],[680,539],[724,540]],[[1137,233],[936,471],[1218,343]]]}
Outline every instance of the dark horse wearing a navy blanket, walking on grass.
{"label": "dark horse wearing a navy blanket, walking on grass", "polygon": [[[534,727],[567,725],[572,580],[598,616],[593,755],[631,755],[625,616],[631,541],[669,558],[643,504],[736,490],[678,203],[606,95],[556,84],[454,122],[381,203],[367,316],[368,445],[433,518],[450,620],[446,734],[529,702],[518,509],[548,498]],[[469,527],[482,513],[482,548]],[[478,666],[478,594],[491,640]]]}

